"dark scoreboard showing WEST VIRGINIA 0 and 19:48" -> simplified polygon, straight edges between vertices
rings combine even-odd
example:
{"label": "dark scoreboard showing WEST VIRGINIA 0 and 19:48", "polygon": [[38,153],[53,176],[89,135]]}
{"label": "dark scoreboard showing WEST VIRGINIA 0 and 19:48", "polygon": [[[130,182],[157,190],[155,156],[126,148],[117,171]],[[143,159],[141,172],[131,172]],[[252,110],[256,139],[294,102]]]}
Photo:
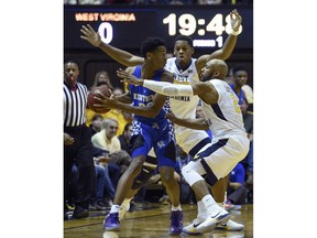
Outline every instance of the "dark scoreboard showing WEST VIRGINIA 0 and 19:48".
{"label": "dark scoreboard showing WEST VIRGINIA 0 and 19:48", "polygon": [[[101,40],[120,48],[139,48],[147,36],[158,36],[173,48],[174,39],[188,35],[195,47],[222,47],[230,32],[232,6],[110,7],[64,6],[64,47],[90,48],[80,39],[81,25],[90,24]],[[237,48],[253,48],[253,9],[237,9],[242,17]]]}

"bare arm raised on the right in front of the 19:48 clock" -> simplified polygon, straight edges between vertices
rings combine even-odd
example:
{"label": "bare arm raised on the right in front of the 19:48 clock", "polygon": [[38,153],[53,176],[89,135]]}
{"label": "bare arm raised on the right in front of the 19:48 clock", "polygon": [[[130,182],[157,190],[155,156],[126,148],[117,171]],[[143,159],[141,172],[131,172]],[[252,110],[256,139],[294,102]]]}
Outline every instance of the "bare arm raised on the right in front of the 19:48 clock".
{"label": "bare arm raised on the right in front of the 19:48 clock", "polygon": [[198,57],[196,62],[196,67],[198,72],[200,72],[200,69],[204,67],[206,62],[208,62],[211,58],[219,58],[219,60],[226,61],[227,58],[230,57],[237,43],[238,32],[239,32],[241,22],[242,22],[242,18],[239,14],[239,12],[236,9],[231,11],[230,12],[230,24],[232,29],[231,33],[226,39],[222,48],[215,51],[210,55],[201,55],[200,57]]}

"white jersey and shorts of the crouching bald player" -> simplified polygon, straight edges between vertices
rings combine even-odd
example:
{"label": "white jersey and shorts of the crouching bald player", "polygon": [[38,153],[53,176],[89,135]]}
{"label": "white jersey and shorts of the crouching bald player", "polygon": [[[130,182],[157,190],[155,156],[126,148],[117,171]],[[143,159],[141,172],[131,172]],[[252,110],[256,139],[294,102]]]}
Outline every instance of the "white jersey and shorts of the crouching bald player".
{"label": "white jersey and shorts of the crouching bald player", "polygon": [[[228,83],[211,79],[208,84],[212,84],[219,94],[218,102],[215,105],[203,101],[206,119],[211,122],[209,128],[212,131],[212,142],[198,152],[201,163],[198,162],[197,163],[192,161],[184,167],[184,172],[196,171],[200,175],[207,172],[208,176],[219,180],[228,175],[237,163],[245,158],[250,141],[244,130],[239,99]],[[194,184],[197,181],[190,182]]]}

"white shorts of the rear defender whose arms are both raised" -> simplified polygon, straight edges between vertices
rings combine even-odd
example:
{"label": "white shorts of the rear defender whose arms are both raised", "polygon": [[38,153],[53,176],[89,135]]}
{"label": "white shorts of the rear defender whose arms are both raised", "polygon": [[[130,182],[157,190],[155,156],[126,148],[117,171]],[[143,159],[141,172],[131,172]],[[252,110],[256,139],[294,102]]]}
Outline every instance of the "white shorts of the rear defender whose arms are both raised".
{"label": "white shorts of the rear defender whose arms are both raised", "polygon": [[205,130],[194,130],[175,126],[175,136],[176,143],[193,158],[195,158],[198,151],[206,144],[211,143],[211,139]]}

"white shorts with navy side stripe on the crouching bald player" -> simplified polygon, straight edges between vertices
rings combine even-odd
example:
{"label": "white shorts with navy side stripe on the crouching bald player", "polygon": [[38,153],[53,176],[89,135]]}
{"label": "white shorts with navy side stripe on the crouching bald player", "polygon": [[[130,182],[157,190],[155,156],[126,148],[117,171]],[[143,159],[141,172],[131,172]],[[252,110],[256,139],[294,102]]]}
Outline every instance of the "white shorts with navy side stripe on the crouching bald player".
{"label": "white shorts with navy side stripe on the crouching bald player", "polygon": [[227,176],[247,156],[249,145],[250,140],[244,133],[212,140],[211,144],[198,152],[198,160],[189,162],[186,169],[195,170],[200,175],[207,173],[209,184],[215,184],[216,181]]}

